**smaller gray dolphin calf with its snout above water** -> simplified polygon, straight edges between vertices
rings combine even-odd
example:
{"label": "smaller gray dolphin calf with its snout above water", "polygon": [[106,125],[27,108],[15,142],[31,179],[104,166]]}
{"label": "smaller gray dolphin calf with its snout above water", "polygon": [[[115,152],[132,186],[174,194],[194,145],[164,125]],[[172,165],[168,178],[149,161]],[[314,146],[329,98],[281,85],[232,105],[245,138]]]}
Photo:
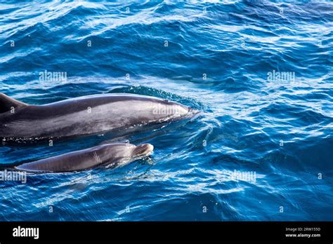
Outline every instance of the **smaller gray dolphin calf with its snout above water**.
{"label": "smaller gray dolphin calf with its snout above water", "polygon": [[15,166],[28,172],[72,172],[105,165],[115,168],[152,154],[151,144],[129,143],[103,144],[90,149],[73,151],[68,154],[41,159],[32,163]]}

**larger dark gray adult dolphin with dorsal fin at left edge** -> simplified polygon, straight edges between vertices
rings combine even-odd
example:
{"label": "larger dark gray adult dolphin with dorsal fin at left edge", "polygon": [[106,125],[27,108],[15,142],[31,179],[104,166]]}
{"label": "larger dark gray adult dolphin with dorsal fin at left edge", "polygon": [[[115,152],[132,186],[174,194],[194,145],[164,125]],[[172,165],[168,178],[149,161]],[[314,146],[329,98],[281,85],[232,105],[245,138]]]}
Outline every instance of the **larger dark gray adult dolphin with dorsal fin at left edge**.
{"label": "larger dark gray adult dolphin with dorsal fin at left edge", "polygon": [[30,105],[0,93],[0,138],[42,139],[105,133],[196,114],[177,102],[126,93]]}

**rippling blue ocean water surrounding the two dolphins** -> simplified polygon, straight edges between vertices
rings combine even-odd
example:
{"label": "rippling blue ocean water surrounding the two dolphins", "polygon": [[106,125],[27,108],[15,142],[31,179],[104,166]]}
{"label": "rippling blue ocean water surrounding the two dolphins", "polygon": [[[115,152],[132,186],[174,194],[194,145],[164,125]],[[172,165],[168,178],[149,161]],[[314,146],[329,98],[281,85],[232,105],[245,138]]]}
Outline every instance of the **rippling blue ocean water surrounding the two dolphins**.
{"label": "rippling blue ocean water surrounding the two dolphins", "polygon": [[6,164],[126,140],[155,152],[2,181],[0,220],[332,221],[332,23],[329,1],[1,1],[1,93],[29,104],[136,93],[202,114],[1,144]]}

